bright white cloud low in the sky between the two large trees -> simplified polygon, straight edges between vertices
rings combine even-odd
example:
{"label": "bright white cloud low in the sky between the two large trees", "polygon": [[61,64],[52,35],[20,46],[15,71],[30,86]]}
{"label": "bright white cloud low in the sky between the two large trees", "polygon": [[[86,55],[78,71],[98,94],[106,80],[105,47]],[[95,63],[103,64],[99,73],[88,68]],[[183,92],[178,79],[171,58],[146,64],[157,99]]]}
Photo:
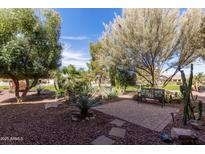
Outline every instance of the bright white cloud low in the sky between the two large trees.
{"label": "bright white cloud low in the sky between the two large trees", "polygon": [[86,57],[82,51],[71,50],[69,45],[65,45],[62,52],[62,66],[68,66],[72,64],[77,68],[87,69],[86,63],[90,58]]}

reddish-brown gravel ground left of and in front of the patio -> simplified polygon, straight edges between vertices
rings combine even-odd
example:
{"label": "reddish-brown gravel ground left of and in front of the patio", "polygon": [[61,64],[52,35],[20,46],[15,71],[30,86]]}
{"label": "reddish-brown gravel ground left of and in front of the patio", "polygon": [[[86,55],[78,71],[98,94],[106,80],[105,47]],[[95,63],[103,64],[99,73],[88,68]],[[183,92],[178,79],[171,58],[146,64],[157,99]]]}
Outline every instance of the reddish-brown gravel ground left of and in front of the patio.
{"label": "reddish-brown gravel ground left of and in front of the patio", "polygon": [[[115,140],[115,144],[164,144],[158,132],[129,122],[122,126],[127,130],[124,139],[109,136],[115,117],[93,110],[95,119],[76,122],[71,120],[75,107],[63,104],[45,110],[40,99],[35,103],[35,97],[39,96],[28,96],[23,104],[0,105],[0,144],[90,144],[101,135]],[[40,98],[51,100],[47,95]]]}

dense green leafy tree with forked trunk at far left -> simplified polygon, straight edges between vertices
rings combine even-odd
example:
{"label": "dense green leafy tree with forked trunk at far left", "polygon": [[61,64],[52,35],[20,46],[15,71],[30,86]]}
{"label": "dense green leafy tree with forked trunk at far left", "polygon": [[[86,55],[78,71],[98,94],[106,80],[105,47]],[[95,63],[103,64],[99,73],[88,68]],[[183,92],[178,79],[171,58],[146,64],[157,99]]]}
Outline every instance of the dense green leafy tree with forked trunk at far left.
{"label": "dense green leafy tree with forked trunk at far left", "polygon": [[[18,102],[60,65],[60,22],[53,10],[0,9],[0,76],[13,80]],[[22,95],[19,80],[26,81]]]}

